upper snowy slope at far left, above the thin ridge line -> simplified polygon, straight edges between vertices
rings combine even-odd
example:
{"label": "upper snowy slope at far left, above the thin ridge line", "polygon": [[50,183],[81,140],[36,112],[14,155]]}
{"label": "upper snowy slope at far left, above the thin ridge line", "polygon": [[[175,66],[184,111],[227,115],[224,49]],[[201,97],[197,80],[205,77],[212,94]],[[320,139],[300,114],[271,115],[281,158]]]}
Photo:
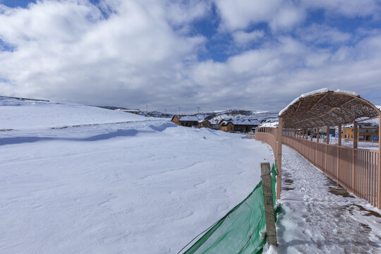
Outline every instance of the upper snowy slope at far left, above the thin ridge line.
{"label": "upper snowy slope at far left, above the thin ridge line", "polygon": [[0,130],[145,120],[147,118],[136,114],[99,107],[0,97]]}

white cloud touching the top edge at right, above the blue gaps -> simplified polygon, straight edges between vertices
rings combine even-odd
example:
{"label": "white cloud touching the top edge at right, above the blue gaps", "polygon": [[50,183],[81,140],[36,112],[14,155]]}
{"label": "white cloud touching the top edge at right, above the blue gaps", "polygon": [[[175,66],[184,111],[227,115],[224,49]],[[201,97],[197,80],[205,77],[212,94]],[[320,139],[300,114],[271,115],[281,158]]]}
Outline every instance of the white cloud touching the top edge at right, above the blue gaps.
{"label": "white cloud touching the top edge at right, above the blue gaps", "polygon": [[214,0],[222,18],[221,30],[244,30],[250,25],[267,23],[273,32],[284,32],[301,24],[308,11],[325,11],[327,17],[381,18],[379,0]]}

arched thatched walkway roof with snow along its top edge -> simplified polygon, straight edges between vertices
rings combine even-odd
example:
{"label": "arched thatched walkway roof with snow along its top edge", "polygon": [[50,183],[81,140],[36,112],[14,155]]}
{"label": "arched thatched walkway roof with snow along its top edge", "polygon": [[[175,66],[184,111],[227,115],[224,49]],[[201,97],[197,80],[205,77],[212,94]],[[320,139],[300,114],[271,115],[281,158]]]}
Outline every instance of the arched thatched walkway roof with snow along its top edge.
{"label": "arched thatched walkway roof with snow along its top edge", "polygon": [[301,95],[279,112],[284,128],[337,126],[380,114],[380,109],[356,92],[327,89]]}

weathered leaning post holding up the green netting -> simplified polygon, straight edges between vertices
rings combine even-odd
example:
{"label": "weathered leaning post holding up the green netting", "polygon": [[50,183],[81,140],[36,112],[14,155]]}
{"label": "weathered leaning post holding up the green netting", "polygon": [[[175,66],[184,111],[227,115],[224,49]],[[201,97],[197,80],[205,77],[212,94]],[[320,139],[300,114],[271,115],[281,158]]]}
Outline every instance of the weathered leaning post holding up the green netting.
{"label": "weathered leaning post holding up the green netting", "polygon": [[277,246],[277,229],[275,229],[274,202],[269,162],[260,164],[260,173],[260,177],[262,178],[263,204],[265,206],[267,243]]}

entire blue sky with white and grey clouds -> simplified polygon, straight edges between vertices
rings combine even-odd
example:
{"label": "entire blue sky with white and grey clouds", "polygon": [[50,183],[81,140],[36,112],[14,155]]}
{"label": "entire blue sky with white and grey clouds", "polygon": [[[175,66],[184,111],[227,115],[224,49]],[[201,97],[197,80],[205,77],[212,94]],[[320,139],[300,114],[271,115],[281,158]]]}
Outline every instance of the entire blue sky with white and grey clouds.
{"label": "entire blue sky with white and grey clouds", "polygon": [[0,95],[176,112],[381,104],[381,0],[0,0]]}

